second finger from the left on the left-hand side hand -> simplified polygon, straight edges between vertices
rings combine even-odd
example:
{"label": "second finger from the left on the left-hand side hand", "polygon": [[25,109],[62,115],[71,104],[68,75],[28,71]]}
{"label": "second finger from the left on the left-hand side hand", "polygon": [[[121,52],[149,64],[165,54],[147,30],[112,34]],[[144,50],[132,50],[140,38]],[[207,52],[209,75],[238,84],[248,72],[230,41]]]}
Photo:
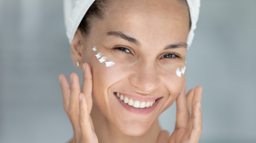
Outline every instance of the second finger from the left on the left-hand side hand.
{"label": "second finger from the left on the left-hand side hand", "polygon": [[[70,101],[69,101],[69,115],[71,118],[71,122],[75,127],[79,127],[78,124],[78,116],[79,116],[79,100],[78,94],[80,93],[79,79],[76,73],[70,74],[71,81],[71,93],[70,93]],[[79,129],[78,129],[79,130]]]}

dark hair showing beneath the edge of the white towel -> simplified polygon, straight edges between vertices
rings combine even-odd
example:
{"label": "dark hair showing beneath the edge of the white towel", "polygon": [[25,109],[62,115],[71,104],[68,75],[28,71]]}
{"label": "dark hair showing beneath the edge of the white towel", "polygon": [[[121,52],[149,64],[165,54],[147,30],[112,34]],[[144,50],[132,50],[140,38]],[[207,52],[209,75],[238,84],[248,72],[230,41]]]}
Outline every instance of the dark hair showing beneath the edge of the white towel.
{"label": "dark hair showing beneath the edge of the white towel", "polygon": [[[186,0],[178,0],[181,4],[184,4],[188,9],[188,16],[189,16],[189,30],[191,28],[191,18],[190,18],[190,11]],[[81,30],[81,33],[84,36],[88,36],[90,34],[90,29],[92,27],[91,21],[94,18],[104,19],[105,11],[107,9],[107,0],[95,0],[91,7],[85,13],[81,23],[79,24],[78,28]]]}

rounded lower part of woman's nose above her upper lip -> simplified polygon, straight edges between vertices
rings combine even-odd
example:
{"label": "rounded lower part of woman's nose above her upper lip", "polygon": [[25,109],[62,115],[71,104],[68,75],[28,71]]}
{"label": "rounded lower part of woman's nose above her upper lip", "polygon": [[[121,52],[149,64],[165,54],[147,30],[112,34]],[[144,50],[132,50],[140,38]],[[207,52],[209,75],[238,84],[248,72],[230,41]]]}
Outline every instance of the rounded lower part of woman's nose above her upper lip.
{"label": "rounded lower part of woman's nose above her upper lip", "polygon": [[134,67],[129,77],[130,83],[138,88],[138,92],[149,94],[160,86],[155,64],[141,63]]}

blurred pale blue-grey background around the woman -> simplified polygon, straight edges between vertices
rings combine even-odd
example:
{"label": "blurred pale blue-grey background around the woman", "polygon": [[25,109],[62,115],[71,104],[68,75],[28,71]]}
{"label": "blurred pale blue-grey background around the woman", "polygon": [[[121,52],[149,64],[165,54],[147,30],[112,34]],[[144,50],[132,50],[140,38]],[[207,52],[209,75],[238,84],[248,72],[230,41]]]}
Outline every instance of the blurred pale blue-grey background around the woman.
{"label": "blurred pale blue-grey background around the woman", "polygon": [[[200,143],[256,142],[255,14],[255,0],[201,1],[186,60],[187,90],[203,87]],[[0,0],[0,143],[72,138],[58,81],[71,72],[82,75],[70,57],[62,0]],[[170,132],[175,106],[160,116]]]}

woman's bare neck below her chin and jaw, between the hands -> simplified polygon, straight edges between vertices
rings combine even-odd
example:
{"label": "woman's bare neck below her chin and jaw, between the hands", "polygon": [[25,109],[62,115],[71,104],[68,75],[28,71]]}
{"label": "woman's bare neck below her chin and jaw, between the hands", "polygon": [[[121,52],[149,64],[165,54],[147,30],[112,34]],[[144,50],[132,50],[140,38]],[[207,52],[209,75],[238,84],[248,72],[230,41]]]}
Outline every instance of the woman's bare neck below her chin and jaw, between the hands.
{"label": "woman's bare neck below her chin and jaw, between the hands", "polygon": [[141,136],[129,136],[120,132],[93,103],[91,118],[99,143],[156,143],[161,131],[158,120]]}

